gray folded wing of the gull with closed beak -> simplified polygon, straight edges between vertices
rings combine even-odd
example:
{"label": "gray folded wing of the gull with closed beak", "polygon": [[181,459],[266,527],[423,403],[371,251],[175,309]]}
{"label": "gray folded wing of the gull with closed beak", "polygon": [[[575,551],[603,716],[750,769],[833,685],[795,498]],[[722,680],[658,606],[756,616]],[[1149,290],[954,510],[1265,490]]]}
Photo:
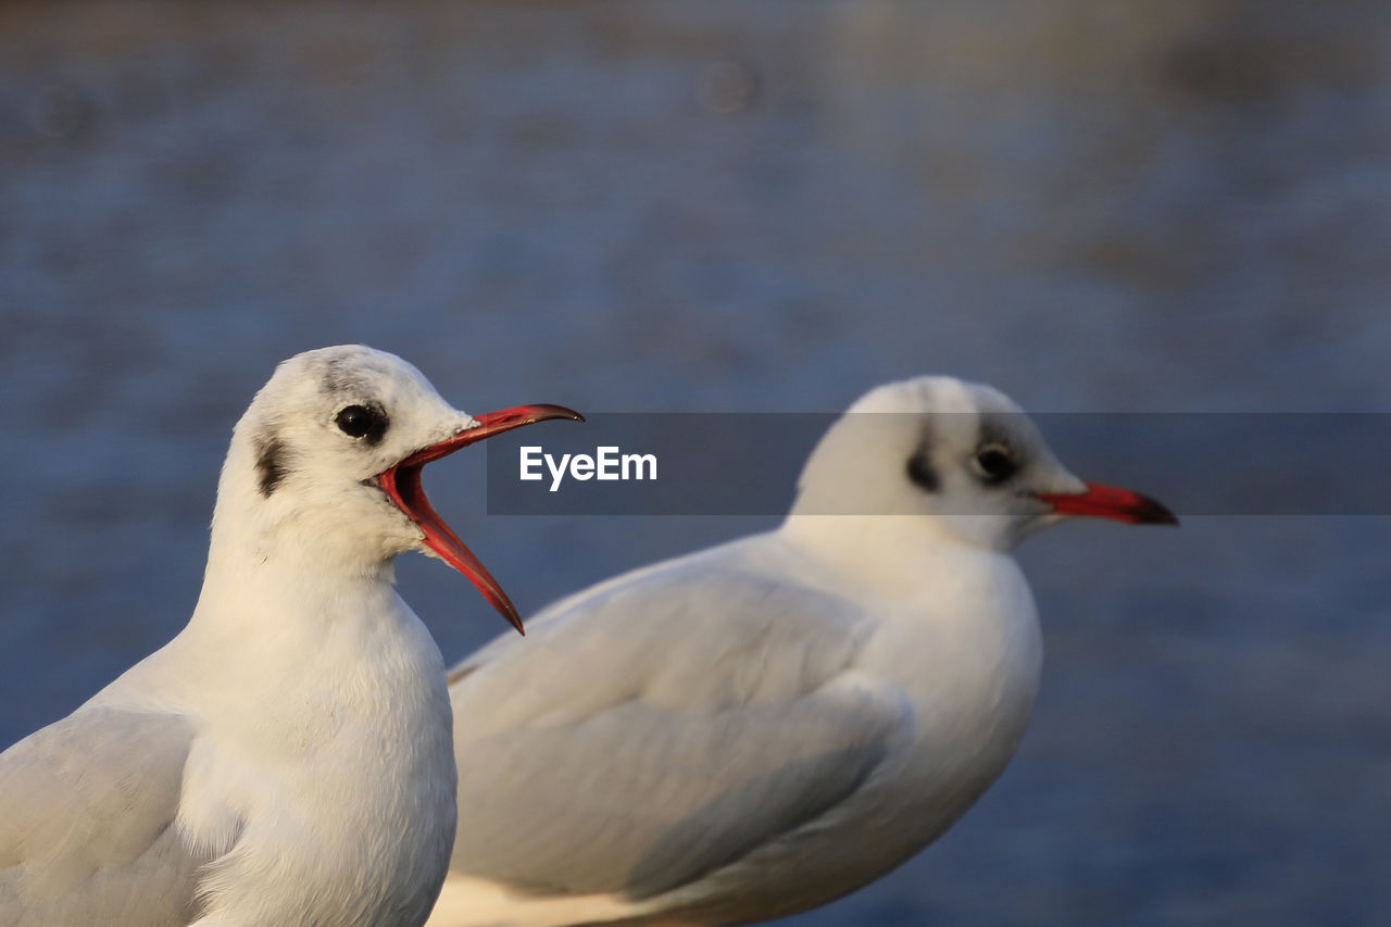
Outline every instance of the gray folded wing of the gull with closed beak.
{"label": "gray folded wing of the gull with closed beak", "polygon": [[908,724],[853,670],[868,631],[708,564],[561,603],[455,674],[452,873],[647,898],[826,814]]}

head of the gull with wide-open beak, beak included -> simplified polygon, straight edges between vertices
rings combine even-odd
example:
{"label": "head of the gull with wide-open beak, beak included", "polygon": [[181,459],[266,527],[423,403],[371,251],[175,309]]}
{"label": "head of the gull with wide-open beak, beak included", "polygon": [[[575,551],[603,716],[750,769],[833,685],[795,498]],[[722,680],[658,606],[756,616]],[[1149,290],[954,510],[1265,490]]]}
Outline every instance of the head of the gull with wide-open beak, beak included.
{"label": "head of the gull with wide-open beak, beak included", "polygon": [[[380,575],[420,551],[444,560],[519,631],[516,608],[430,505],[430,461],[510,429],[577,412],[523,405],[472,416],[401,358],[360,345],[282,362],[238,422],[213,518],[228,547],[303,572]],[[210,558],[210,562],[211,560]]]}

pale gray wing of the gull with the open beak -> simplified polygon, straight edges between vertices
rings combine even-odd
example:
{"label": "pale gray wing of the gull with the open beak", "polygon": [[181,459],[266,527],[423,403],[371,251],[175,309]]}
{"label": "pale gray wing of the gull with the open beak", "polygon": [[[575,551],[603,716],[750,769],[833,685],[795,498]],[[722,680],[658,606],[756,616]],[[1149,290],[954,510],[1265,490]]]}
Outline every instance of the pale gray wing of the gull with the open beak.
{"label": "pale gray wing of the gull with the open beak", "polygon": [[79,708],[0,754],[0,923],[193,920],[174,827],[193,729],[172,714]]}

